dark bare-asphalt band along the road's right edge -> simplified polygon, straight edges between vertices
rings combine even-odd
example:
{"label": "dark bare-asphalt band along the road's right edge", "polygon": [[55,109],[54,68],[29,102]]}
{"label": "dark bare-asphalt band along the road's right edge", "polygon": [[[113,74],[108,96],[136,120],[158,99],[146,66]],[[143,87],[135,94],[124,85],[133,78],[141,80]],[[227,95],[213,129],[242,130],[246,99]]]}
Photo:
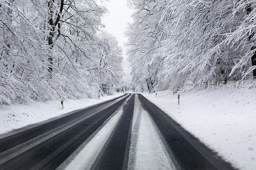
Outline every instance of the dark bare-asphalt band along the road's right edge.
{"label": "dark bare-asphalt band along the road's right edge", "polygon": [[[183,136],[184,133],[188,133],[185,132],[185,129],[144,96],[141,94],[138,95],[142,107],[155,122],[168,145],[167,147],[172,151],[181,169],[234,169],[229,163],[220,159],[214,152],[191,134],[189,138],[185,138]],[[179,126],[179,128],[177,128],[177,126]],[[177,129],[179,129],[179,131]],[[202,151],[201,148],[199,152],[191,143],[197,143],[197,145],[202,146],[204,151]],[[207,158],[205,156],[207,156]]]}

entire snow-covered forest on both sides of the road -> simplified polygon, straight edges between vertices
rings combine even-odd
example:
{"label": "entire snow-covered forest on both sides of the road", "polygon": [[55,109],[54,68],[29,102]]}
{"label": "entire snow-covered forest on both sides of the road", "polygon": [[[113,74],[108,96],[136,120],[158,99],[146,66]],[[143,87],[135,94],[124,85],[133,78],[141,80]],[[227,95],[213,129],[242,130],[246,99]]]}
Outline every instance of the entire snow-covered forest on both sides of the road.
{"label": "entire snow-covered forest on both sides of the road", "polygon": [[255,0],[128,0],[125,78],[102,2],[0,0],[0,103],[256,77]]}

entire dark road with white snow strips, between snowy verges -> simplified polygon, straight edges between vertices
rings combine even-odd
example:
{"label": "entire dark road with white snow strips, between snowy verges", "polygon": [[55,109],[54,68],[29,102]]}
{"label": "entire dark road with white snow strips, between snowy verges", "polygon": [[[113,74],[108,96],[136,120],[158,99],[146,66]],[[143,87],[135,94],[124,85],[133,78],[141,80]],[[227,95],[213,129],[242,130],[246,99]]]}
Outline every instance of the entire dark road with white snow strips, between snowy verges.
{"label": "entire dark road with white snow strips, between snowy verges", "polygon": [[126,93],[1,138],[0,169],[234,168],[141,94]]}

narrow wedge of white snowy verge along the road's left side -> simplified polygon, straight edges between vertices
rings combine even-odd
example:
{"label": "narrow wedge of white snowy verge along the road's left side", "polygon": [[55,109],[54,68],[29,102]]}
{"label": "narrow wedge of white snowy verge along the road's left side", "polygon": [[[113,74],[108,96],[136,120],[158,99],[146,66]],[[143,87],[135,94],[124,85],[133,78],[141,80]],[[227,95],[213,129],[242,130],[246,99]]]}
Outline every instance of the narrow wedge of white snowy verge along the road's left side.
{"label": "narrow wedge of white snowy verge along the road's left side", "polygon": [[16,104],[0,107],[0,134],[21,128],[33,123],[41,122],[77,109],[82,109],[93,104],[111,100],[122,93],[97,99],[64,100],[64,109],[60,109],[60,101],[36,102],[32,105]]}

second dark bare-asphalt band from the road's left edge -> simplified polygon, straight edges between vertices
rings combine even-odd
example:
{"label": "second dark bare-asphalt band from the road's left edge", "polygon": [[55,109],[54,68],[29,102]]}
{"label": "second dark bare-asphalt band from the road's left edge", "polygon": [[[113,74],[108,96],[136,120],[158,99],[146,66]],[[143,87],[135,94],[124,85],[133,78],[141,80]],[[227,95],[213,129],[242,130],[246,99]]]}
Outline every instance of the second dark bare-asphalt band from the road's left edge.
{"label": "second dark bare-asphalt band from the road's left edge", "polygon": [[122,105],[128,96],[73,127],[4,162],[1,164],[1,169],[57,168]]}

